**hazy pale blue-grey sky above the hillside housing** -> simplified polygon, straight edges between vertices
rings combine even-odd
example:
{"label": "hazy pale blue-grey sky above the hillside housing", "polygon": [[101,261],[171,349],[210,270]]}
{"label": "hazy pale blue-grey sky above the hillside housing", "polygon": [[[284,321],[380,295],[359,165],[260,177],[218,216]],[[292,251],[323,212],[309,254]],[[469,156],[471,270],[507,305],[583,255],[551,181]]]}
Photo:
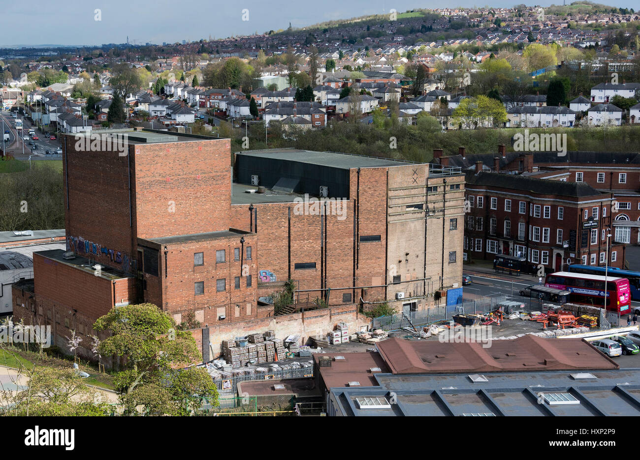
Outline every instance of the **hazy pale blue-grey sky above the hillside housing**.
{"label": "hazy pale blue-grey sky above the hillside housing", "polygon": [[[495,7],[508,7],[522,2],[493,0]],[[539,1],[526,4],[560,4],[561,1]],[[570,3],[570,1],[567,1]],[[599,3],[608,3],[601,1]],[[438,6],[483,6],[473,0],[30,0],[28,3],[4,2],[3,29],[0,46],[7,45],[100,45],[102,43],[174,43],[200,38],[224,38],[269,29],[305,27],[317,22],[347,19],[371,13],[398,12],[412,8]],[[614,6],[638,8],[637,0],[617,0]],[[249,20],[243,21],[243,9]],[[102,20],[94,20],[96,9],[102,11]],[[43,26],[41,27],[40,24]]]}

